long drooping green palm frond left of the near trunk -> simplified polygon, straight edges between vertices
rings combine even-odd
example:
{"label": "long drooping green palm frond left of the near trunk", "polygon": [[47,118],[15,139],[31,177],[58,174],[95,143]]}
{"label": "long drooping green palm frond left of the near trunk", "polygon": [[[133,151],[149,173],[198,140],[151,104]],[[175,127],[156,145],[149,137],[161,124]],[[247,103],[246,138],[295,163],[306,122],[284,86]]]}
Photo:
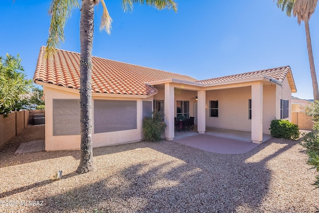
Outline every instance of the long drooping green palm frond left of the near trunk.
{"label": "long drooping green palm frond left of the near trunk", "polygon": [[59,47],[60,41],[64,42],[64,26],[75,7],[79,7],[78,0],[52,0],[48,11],[51,22],[46,41],[46,56]]}

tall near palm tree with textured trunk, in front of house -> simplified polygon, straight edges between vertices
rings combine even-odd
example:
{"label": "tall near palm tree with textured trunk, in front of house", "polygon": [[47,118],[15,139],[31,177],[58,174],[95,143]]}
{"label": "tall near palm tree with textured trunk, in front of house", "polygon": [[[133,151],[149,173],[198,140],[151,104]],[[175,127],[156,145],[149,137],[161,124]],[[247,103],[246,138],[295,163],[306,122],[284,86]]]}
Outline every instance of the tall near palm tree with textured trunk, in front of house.
{"label": "tall near palm tree with textured trunk, in front of house", "polygon": [[[81,158],[76,172],[86,173],[94,170],[92,152],[92,45],[94,31],[94,6],[101,1],[103,15],[100,30],[110,33],[112,19],[104,0],[82,0],[80,17],[80,123],[81,123]],[[133,4],[140,3],[157,9],[177,11],[173,0],[122,0],[124,11],[133,10]],[[78,0],[52,0],[49,14],[52,16],[47,40],[47,56],[64,41],[64,26],[73,8],[79,7]]]}

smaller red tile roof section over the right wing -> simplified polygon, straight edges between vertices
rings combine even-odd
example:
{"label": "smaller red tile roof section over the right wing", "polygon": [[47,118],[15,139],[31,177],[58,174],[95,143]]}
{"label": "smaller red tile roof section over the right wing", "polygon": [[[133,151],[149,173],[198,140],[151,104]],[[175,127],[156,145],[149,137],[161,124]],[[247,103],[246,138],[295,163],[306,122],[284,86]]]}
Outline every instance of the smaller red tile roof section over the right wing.
{"label": "smaller red tile roof section over the right wing", "polygon": [[282,67],[264,69],[264,70],[254,71],[254,72],[228,75],[228,76],[219,77],[219,78],[210,78],[207,80],[201,80],[197,82],[203,83],[203,84],[209,84],[209,83],[224,82],[229,80],[243,79],[248,77],[267,76],[272,79],[276,79],[277,81],[282,83],[290,71],[291,71],[290,66],[282,66]]}

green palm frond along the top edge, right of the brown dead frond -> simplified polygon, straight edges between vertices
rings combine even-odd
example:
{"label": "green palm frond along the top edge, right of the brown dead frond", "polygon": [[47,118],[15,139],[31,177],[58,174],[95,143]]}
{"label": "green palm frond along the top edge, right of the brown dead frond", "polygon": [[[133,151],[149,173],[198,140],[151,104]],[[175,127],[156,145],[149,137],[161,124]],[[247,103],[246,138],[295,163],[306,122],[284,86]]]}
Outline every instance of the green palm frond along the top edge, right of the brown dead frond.
{"label": "green palm frond along the top edge, right of the brown dead frond", "polygon": [[173,9],[177,12],[177,3],[173,0],[122,0],[122,8],[125,12],[133,10],[133,4],[140,3],[148,6],[153,6],[159,10],[161,9]]}

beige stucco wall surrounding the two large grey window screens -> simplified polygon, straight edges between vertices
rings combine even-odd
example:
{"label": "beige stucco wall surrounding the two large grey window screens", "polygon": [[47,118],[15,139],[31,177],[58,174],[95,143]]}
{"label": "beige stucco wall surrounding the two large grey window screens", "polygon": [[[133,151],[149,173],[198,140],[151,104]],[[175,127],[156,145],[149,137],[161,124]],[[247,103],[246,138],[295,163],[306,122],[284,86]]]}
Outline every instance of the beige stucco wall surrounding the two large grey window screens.
{"label": "beige stucco wall surrounding the two large grey window screens", "polygon": [[[68,136],[53,136],[53,99],[79,99],[79,93],[76,91],[63,91],[55,88],[45,88],[45,150],[74,150],[80,149],[80,135]],[[116,131],[108,133],[92,134],[93,147],[101,147],[115,145],[121,143],[129,143],[140,141],[143,138],[142,131],[142,103],[143,101],[153,101],[153,98],[148,99],[132,99],[132,98],[111,98],[94,96],[93,99],[111,99],[111,100],[137,100],[137,129]],[[92,101],[92,109],[94,109],[94,101]],[[94,110],[92,118],[94,119]],[[79,118],[80,119],[80,118]],[[94,124],[94,120],[93,120]]]}

